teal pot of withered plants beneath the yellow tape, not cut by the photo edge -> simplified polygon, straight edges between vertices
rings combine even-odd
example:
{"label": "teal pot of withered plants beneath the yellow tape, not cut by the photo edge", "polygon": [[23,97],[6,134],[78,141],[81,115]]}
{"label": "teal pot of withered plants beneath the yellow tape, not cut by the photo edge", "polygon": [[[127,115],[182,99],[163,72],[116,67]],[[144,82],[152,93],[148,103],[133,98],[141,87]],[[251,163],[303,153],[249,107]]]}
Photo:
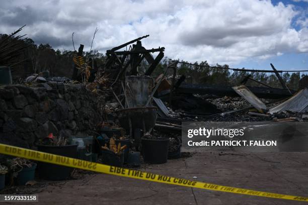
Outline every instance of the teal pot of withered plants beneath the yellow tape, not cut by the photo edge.
{"label": "teal pot of withered plants beneath the yellow tape, not cut by the photo edge", "polygon": [[34,179],[36,163],[16,157],[10,160],[10,171],[18,185],[25,185]]}

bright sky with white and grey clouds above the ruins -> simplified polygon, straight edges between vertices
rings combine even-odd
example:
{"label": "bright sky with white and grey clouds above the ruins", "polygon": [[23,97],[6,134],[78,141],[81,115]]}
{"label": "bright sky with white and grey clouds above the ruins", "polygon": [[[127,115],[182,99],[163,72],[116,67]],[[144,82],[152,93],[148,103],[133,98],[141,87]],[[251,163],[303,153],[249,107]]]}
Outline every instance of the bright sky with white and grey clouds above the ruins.
{"label": "bright sky with white and grey clouds above the ruins", "polygon": [[308,69],[308,0],[27,0],[4,1],[0,33],[26,24],[35,43],[107,49],[149,34],[146,48],[189,62]]}

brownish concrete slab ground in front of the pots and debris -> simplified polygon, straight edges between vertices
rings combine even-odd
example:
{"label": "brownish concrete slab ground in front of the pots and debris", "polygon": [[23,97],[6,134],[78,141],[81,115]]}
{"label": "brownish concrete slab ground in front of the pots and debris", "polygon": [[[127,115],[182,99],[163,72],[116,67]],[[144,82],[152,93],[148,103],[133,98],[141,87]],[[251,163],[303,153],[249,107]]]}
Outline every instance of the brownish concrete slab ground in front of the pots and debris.
{"label": "brownish concrete slab ground in front of the pots and debris", "polygon": [[[141,170],[191,180],[308,196],[307,153],[202,152],[192,157],[146,165]],[[197,188],[181,187],[79,171],[77,179],[38,181],[18,193],[38,193],[33,204],[304,204]],[[197,177],[197,178],[194,178]],[[3,193],[3,192],[2,192]]]}

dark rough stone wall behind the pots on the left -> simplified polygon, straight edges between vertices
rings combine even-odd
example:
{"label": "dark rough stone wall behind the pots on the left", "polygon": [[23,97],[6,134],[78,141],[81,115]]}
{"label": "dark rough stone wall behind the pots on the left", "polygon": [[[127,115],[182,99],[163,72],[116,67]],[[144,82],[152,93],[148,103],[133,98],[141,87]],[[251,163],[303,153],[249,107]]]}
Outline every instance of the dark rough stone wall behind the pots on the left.
{"label": "dark rough stone wall behind the pots on the left", "polygon": [[49,133],[87,133],[102,121],[97,104],[82,84],[0,86],[0,143],[33,148]]}

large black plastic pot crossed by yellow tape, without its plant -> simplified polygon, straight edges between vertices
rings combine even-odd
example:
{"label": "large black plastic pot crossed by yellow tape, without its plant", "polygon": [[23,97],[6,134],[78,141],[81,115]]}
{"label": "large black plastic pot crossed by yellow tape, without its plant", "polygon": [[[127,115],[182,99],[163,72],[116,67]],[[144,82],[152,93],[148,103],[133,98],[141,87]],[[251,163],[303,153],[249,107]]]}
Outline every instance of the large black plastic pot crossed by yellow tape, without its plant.
{"label": "large black plastic pot crossed by yellow tape, without its plant", "polygon": [[[77,146],[78,144],[63,145],[63,146],[37,145],[37,148],[38,151],[41,152],[76,158]],[[38,162],[38,172],[40,176],[48,180],[69,179],[72,171],[73,168],[71,167],[55,165],[45,162]]]}

